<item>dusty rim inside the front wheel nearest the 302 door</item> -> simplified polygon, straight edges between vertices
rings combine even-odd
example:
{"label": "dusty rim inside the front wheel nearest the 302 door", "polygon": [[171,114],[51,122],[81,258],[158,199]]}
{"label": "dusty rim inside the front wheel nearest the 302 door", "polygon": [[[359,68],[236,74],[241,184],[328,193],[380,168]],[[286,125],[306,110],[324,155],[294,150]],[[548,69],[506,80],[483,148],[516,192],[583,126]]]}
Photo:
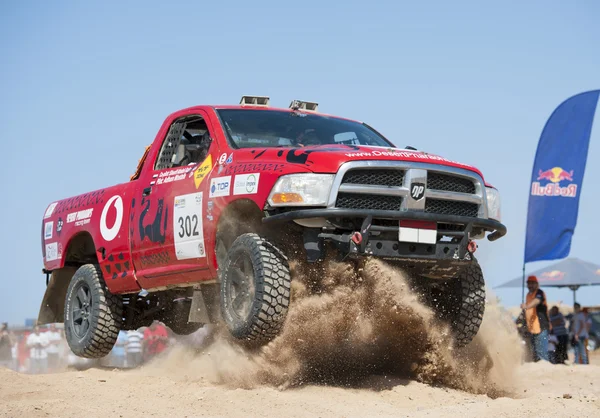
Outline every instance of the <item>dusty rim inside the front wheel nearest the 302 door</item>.
{"label": "dusty rim inside the front wheel nearest the 302 door", "polygon": [[229,268],[229,302],[239,318],[247,318],[250,314],[255,292],[254,266],[250,257],[243,254]]}

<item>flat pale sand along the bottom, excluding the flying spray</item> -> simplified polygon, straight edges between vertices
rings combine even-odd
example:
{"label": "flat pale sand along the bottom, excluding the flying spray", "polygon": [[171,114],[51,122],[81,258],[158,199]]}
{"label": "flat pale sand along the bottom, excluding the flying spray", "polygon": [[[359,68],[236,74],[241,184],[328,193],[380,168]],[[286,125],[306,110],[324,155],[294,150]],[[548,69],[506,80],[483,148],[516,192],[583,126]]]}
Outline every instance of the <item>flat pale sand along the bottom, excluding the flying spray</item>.
{"label": "flat pale sand along the bottom, excluding the flying spray", "polygon": [[[600,356],[596,356],[600,361]],[[193,376],[91,369],[52,375],[0,371],[6,417],[599,416],[600,367],[526,364],[514,393],[492,399],[443,386],[373,378],[362,388],[231,389]]]}

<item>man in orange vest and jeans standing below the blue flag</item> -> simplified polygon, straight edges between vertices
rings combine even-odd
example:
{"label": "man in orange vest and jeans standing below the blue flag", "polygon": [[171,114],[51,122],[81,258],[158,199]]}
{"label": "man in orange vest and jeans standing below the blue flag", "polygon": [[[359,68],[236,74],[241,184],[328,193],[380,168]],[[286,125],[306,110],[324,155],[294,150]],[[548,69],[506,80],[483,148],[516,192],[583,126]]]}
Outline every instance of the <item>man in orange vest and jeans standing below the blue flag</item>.
{"label": "man in orange vest and jeans standing below the blue flag", "polygon": [[548,361],[548,306],[546,305],[546,294],[539,288],[537,277],[527,278],[526,302],[521,304],[525,310],[527,329],[531,333],[533,346],[533,360],[540,359]]}

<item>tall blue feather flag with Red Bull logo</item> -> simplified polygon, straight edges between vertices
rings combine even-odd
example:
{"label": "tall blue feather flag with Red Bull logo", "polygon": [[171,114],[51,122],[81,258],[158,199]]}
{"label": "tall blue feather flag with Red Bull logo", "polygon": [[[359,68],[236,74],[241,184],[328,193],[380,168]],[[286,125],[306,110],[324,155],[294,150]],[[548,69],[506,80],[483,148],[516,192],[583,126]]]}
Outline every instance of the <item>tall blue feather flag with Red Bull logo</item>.
{"label": "tall blue feather flag with Red Bull logo", "polygon": [[542,131],[529,187],[525,263],[569,255],[599,94],[567,99]]}

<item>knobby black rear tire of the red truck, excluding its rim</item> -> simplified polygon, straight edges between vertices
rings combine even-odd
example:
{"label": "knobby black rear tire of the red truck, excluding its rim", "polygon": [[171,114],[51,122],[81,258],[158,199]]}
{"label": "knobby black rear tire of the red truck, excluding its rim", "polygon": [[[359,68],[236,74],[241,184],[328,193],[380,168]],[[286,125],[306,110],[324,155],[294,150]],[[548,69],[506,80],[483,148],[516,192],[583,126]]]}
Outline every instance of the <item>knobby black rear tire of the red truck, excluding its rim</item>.
{"label": "knobby black rear tire of the red truck, excluding its rim", "polygon": [[[78,292],[90,295],[88,328],[77,327],[74,310],[81,311]],[[75,272],[65,298],[65,337],[71,351],[79,357],[101,358],[112,350],[123,322],[123,301],[106,288],[102,271],[96,264],[85,264]]]}

